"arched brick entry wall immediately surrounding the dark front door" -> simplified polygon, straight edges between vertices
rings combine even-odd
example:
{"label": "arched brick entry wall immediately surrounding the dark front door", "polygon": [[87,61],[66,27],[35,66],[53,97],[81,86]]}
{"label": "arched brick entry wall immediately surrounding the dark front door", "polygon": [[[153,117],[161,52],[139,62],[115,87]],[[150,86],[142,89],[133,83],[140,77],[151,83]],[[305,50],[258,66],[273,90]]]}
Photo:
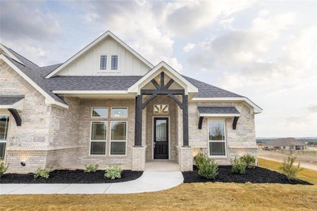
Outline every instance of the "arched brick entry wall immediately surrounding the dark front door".
{"label": "arched brick entry wall immediately surrounding the dark front door", "polygon": [[[154,114],[154,104],[168,104],[168,114]],[[154,117],[168,117],[169,119],[169,160],[176,160],[176,149],[178,146],[176,139],[176,107],[178,105],[168,96],[157,96],[147,104],[147,160],[153,160],[153,138],[154,138]]]}

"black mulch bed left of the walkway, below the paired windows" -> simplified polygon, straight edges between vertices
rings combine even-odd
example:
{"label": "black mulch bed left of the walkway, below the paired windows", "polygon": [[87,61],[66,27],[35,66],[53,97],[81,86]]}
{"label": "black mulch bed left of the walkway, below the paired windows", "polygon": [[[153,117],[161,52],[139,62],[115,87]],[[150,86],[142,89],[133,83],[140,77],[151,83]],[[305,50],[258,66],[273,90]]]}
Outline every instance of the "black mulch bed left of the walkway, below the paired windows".
{"label": "black mulch bed left of the walkway, below the paired windows", "polygon": [[0,184],[6,183],[116,183],[121,181],[130,181],[141,177],[143,172],[123,170],[120,179],[107,179],[104,177],[104,170],[86,173],[84,170],[54,170],[49,174],[48,179],[34,179],[34,174],[4,174],[0,178]]}

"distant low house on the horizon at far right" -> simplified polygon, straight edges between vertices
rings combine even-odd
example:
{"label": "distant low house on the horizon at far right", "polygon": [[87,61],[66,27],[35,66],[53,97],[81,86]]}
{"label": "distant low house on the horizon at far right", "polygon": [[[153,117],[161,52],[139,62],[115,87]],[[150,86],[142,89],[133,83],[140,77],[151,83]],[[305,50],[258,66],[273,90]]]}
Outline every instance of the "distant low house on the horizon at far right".
{"label": "distant low house on the horizon at far right", "polygon": [[297,141],[294,138],[283,138],[268,141],[264,144],[265,148],[273,150],[304,150],[306,145],[302,141]]}

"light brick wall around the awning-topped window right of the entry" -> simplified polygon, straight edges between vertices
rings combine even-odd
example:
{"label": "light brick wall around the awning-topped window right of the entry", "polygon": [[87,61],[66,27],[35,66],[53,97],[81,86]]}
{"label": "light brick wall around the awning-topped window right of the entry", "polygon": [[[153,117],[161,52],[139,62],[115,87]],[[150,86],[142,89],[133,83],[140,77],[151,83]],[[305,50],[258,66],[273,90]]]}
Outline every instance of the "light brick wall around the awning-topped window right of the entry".
{"label": "light brick wall around the awning-topped window right of the entry", "polygon": [[[232,129],[233,117],[204,117],[202,128],[198,129],[199,112],[197,106],[235,106],[240,112],[237,129]],[[208,153],[208,120],[224,120],[227,143],[227,158],[216,158],[220,165],[230,165],[230,159],[250,153],[257,155],[254,114],[251,109],[240,102],[191,102],[189,103],[189,146],[193,155],[204,151]]]}

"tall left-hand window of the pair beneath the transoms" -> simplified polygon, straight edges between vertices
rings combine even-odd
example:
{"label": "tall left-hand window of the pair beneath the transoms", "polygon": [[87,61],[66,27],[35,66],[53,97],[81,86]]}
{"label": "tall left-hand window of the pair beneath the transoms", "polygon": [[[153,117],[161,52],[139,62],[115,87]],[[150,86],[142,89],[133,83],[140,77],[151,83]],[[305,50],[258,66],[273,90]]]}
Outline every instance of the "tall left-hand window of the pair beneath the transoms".
{"label": "tall left-hand window of the pair beneath the transoms", "polygon": [[90,155],[106,155],[106,121],[92,121]]}

